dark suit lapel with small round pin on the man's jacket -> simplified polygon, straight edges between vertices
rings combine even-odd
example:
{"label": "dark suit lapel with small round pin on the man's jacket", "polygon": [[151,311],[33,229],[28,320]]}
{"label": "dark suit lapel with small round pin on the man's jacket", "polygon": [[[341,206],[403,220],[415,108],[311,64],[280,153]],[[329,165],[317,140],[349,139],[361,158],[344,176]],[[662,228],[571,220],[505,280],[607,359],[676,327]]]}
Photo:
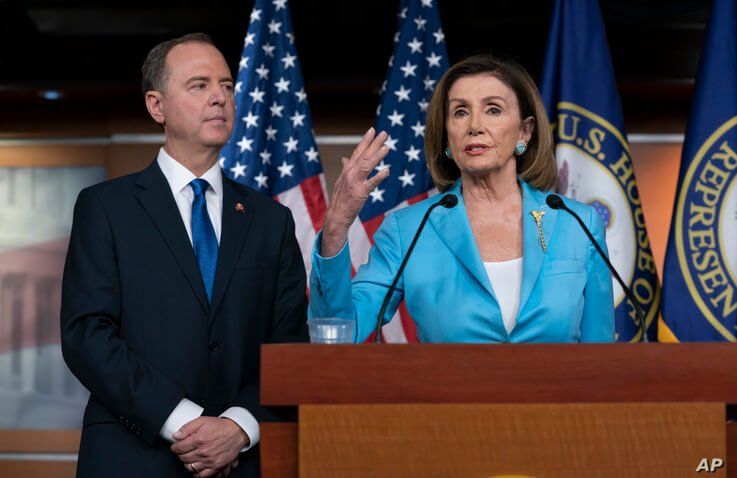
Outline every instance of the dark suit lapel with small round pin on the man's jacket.
{"label": "dark suit lapel with small round pin on the man's jacket", "polygon": [[239,192],[230,180],[223,176],[223,224],[212,290],[210,320],[217,314],[228,289],[228,283],[243,249],[244,239],[253,222],[254,212],[255,208],[248,205],[248,195]]}

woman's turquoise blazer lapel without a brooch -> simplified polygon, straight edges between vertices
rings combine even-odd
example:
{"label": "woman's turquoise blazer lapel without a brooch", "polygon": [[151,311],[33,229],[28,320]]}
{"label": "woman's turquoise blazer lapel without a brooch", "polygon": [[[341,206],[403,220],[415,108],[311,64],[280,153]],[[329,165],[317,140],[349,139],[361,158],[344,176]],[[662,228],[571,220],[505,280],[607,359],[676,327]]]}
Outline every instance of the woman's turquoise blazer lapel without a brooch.
{"label": "woman's turquoise blazer lapel without a brooch", "polygon": [[436,208],[430,214],[430,224],[458,261],[496,300],[491,282],[489,282],[489,276],[479,255],[479,248],[471,231],[471,223],[466,215],[466,206],[463,203],[463,194],[461,194],[461,182],[456,182],[446,193],[455,194],[458,197],[458,205],[451,209]]}

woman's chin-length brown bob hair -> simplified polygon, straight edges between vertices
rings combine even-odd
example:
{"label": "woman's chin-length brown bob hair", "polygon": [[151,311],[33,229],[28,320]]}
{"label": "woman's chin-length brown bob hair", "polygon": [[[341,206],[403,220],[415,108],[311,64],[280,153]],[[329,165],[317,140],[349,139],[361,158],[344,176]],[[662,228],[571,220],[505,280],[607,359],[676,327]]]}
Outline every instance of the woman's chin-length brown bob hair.
{"label": "woman's chin-length brown bob hair", "polygon": [[456,163],[445,155],[445,148],[448,146],[445,131],[448,91],[459,78],[479,73],[488,73],[498,78],[514,91],[519,104],[520,119],[530,116],[535,119],[527,151],[517,156],[517,174],[537,189],[552,189],[558,172],[553,155],[553,134],[540,92],[521,65],[499,60],[491,55],[475,55],[456,63],[445,72],[435,88],[427,109],[425,125],[425,158],[435,185],[441,192],[445,191],[461,176]]}

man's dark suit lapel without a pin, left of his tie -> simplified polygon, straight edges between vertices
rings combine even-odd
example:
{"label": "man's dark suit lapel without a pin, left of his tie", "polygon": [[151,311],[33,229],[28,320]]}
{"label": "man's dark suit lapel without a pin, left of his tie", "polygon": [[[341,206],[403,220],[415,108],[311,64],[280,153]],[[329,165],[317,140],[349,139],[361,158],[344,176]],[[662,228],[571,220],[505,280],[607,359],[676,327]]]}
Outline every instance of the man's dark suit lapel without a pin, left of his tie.
{"label": "man's dark suit lapel without a pin, left of his tie", "polygon": [[136,198],[164,238],[206,314],[210,312],[200,267],[169,184],[154,161],[138,175]]}

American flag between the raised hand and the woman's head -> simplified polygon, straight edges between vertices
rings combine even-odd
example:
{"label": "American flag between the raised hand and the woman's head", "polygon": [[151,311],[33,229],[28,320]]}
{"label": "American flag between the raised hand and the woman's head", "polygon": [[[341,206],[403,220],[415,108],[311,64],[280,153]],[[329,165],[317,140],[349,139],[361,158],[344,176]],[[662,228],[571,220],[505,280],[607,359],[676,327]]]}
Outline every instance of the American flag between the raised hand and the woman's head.
{"label": "American flag between the raised hand and the woman's head", "polygon": [[[371,192],[349,231],[351,262],[356,269],[367,261],[374,232],[388,212],[436,192],[425,163],[423,141],[430,97],[448,69],[437,0],[402,0],[398,17],[394,54],[381,87],[376,118],[376,131],[387,132],[385,144],[390,149],[376,169],[390,166],[391,175]],[[404,303],[398,315],[383,328],[386,341],[417,342]]]}

